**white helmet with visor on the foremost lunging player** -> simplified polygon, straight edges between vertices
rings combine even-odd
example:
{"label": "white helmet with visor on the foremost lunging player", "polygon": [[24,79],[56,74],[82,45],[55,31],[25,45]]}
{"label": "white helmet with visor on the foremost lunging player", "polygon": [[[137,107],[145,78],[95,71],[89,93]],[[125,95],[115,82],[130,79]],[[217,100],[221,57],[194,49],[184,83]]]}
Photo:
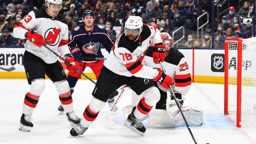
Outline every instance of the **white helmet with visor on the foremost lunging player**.
{"label": "white helmet with visor on the foremost lunging player", "polygon": [[137,38],[134,39],[134,41],[137,41],[139,36],[140,36],[140,33],[142,33],[142,27],[143,27],[143,22],[142,22],[142,18],[141,17],[130,16],[126,20],[124,34],[126,36],[128,36],[129,34],[137,36]]}

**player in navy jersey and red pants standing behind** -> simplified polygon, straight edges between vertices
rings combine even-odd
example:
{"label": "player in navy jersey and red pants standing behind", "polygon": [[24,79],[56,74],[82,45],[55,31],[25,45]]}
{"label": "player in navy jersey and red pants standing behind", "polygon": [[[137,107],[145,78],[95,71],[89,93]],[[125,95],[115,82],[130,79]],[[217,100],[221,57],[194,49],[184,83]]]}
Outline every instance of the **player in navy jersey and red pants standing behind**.
{"label": "player in navy jersey and red pants standing behind", "polygon": [[[94,72],[96,79],[100,74],[100,69],[102,69],[104,60],[97,60],[96,58],[103,58],[100,45],[103,44],[105,49],[110,52],[114,43],[111,41],[108,32],[105,29],[99,28],[94,25],[95,16],[94,12],[91,10],[86,10],[82,13],[82,18],[84,19],[84,24],[76,26],[72,31],[72,36],[68,42],[68,47],[70,47],[70,52],[78,60],[79,67],[81,71],[84,71],[86,67],[89,67]],[[77,71],[68,71],[68,84],[70,84],[70,92],[73,94],[74,86],[76,82],[81,78],[81,73]],[[111,95],[108,99],[110,107],[114,103],[114,95]],[[117,107],[116,107],[117,108]],[[58,107],[60,112],[64,111],[62,105]],[[116,109],[114,110],[116,111]]]}

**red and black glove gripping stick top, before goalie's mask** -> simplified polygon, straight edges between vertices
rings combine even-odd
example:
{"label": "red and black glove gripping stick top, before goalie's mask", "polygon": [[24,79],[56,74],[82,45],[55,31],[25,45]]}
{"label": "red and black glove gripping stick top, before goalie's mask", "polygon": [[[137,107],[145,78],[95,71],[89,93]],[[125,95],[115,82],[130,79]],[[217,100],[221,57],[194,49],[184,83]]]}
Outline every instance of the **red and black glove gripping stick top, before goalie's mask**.
{"label": "red and black glove gripping stick top, before goalie's mask", "polygon": [[164,44],[155,45],[153,50],[154,63],[159,63],[159,59],[161,62],[164,62],[164,58],[166,58],[166,47]]}

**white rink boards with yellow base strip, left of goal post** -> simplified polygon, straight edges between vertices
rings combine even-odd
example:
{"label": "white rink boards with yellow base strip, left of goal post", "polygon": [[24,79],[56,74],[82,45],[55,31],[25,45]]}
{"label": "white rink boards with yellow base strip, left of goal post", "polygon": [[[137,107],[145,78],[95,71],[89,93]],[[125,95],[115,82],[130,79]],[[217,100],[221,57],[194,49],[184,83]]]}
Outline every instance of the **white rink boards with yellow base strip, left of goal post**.
{"label": "white rink boards with yellow base strip, left of goal post", "polygon": [[[191,78],[194,82],[224,83],[224,49],[178,50],[185,55],[188,66],[190,66]],[[24,51],[24,48],[0,48],[0,66],[2,68],[9,68],[15,63],[20,64],[17,70],[12,72],[0,69],[0,78],[26,78],[22,60]],[[105,57],[108,56],[108,52],[105,49],[103,49],[102,53]],[[95,75],[90,68],[86,68],[84,73],[89,78],[95,79]]]}

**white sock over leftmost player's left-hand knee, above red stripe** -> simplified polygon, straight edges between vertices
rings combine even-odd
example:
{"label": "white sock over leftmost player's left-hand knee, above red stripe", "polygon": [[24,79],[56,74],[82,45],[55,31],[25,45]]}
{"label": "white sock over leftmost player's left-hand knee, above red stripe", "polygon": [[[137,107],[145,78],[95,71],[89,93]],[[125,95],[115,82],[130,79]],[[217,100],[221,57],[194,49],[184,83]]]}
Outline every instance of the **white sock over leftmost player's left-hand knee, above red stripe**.
{"label": "white sock over leftmost player's left-hand knee, above red stripe", "polygon": [[31,82],[30,93],[33,95],[41,95],[46,87],[46,82],[44,79],[34,79]]}

